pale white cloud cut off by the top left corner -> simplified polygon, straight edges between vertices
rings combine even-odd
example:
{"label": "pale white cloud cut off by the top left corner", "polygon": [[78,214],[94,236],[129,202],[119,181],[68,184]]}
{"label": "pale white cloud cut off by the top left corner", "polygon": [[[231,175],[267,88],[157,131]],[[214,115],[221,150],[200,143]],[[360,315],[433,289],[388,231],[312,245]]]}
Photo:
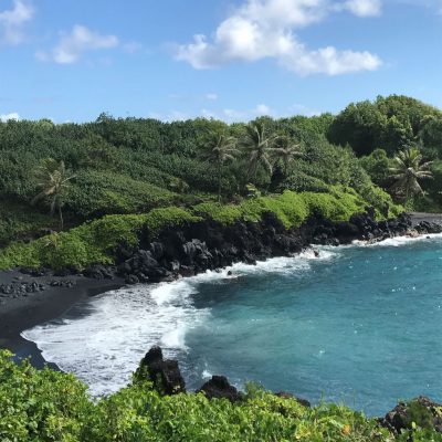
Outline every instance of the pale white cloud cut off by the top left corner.
{"label": "pale white cloud cut off by the top left corner", "polygon": [[0,42],[19,44],[24,40],[23,25],[33,17],[33,9],[22,0],[13,0],[12,9],[0,12]]}

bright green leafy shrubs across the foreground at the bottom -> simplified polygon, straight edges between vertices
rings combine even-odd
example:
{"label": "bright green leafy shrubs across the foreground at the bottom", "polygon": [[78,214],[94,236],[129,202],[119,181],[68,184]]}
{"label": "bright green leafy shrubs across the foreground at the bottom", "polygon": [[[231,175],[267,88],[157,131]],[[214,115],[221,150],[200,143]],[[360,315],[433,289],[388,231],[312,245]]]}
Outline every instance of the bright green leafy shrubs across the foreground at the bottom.
{"label": "bright green leafy shrubs across the foreground at the bottom", "polygon": [[312,409],[254,386],[244,401],[209,401],[203,393],[166,397],[137,381],[92,400],[74,376],[15,364],[0,351],[0,440],[3,442],[173,441],[442,441],[425,410],[410,415],[410,430],[394,438],[376,421],[344,406]]}

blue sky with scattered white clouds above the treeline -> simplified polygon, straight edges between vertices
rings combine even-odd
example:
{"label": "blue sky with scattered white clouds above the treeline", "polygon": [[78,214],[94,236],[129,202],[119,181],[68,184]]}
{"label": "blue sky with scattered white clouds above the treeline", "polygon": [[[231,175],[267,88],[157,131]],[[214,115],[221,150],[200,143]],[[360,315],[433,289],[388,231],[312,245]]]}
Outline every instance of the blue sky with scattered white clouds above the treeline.
{"label": "blue sky with scattered white clouds above the treeline", "polygon": [[0,118],[442,107],[442,0],[0,0]]}

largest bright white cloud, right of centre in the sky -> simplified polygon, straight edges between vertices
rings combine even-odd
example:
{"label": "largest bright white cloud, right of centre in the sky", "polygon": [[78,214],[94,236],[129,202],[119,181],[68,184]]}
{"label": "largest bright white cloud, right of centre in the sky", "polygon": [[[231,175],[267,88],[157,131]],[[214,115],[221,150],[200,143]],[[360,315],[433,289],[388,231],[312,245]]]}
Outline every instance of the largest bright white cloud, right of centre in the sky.
{"label": "largest bright white cloud, right of centre in the sky", "polygon": [[[362,3],[362,0],[347,1],[356,2]],[[376,3],[376,0],[365,2]],[[340,3],[339,8],[359,15],[369,13],[361,6],[357,9],[354,4],[350,9],[347,3]],[[212,42],[197,34],[192,43],[178,46],[176,57],[194,69],[271,57],[299,75],[377,70],[380,59],[367,51],[339,51],[333,46],[309,50],[295,35],[294,31],[320,21],[336,8],[330,0],[246,0],[218,27]]]}

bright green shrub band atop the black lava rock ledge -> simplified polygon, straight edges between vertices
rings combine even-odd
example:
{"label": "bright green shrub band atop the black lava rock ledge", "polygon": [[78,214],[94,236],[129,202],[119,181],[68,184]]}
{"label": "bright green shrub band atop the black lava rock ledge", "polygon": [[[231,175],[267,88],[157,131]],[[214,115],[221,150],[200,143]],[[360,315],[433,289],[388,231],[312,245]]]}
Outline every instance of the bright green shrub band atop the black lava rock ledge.
{"label": "bright green shrub band atop the black lava rock ledge", "polygon": [[[389,214],[398,214],[401,207],[379,192],[389,201]],[[376,207],[378,201],[373,203]],[[352,189],[330,187],[328,193],[287,190],[282,194],[249,198],[240,204],[204,202],[189,209],[168,207],[152,209],[146,214],[105,215],[70,231],[10,244],[0,250],[0,269],[45,266],[82,270],[95,263],[112,264],[118,246],[135,248],[141,235],[154,240],[164,229],[199,222],[204,218],[225,225],[236,220],[259,222],[265,212],[272,212],[290,229],[299,227],[311,214],[347,221],[366,207],[367,201]],[[380,211],[379,217],[382,217]]]}

